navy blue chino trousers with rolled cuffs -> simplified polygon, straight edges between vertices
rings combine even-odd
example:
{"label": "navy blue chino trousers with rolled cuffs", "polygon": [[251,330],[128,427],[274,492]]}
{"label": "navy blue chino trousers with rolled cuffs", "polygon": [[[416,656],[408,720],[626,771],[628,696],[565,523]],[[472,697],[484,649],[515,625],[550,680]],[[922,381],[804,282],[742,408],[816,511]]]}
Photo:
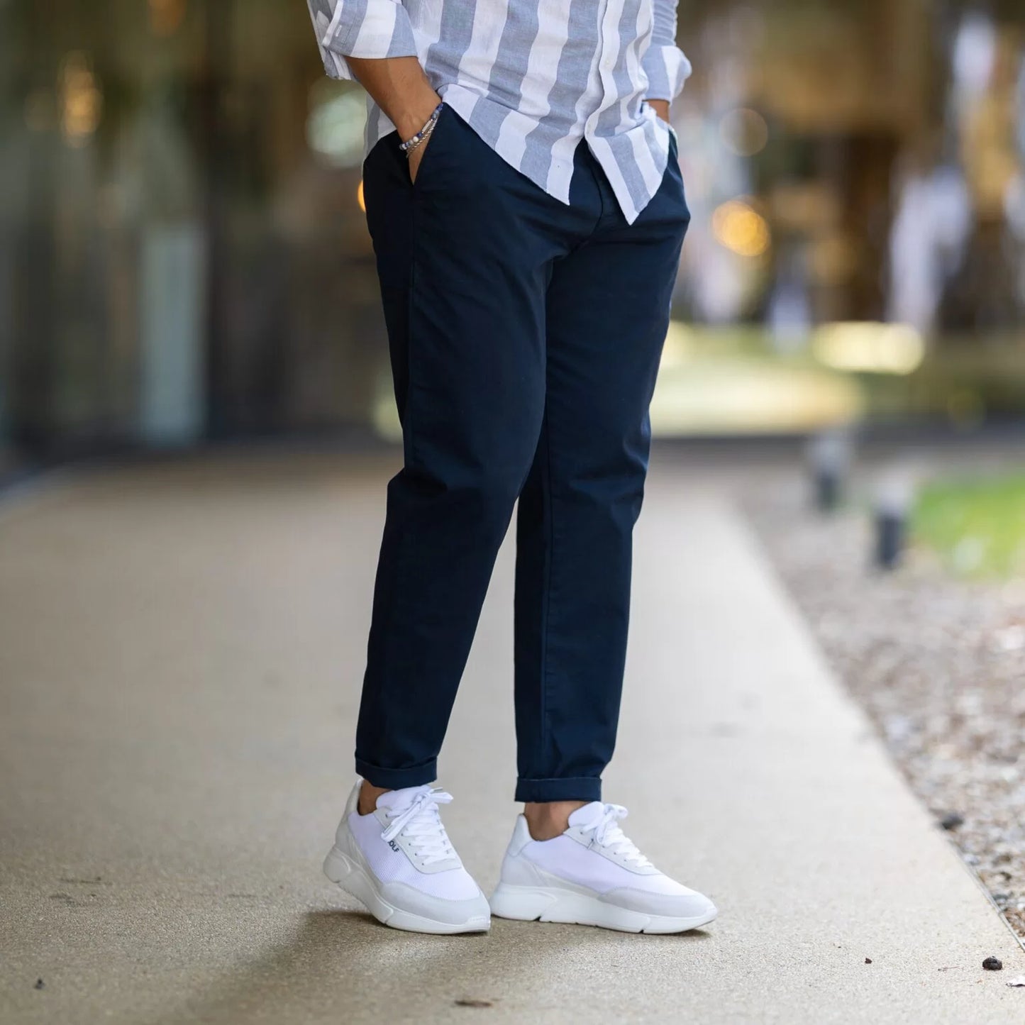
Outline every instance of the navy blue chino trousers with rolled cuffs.
{"label": "navy blue chino trousers with rolled cuffs", "polygon": [[674,153],[628,224],[586,144],[570,203],[444,108],[410,183],[364,166],[402,420],[357,771],[433,781],[495,557],[517,516],[518,801],[596,801],[622,690],[651,402],[690,219]]}

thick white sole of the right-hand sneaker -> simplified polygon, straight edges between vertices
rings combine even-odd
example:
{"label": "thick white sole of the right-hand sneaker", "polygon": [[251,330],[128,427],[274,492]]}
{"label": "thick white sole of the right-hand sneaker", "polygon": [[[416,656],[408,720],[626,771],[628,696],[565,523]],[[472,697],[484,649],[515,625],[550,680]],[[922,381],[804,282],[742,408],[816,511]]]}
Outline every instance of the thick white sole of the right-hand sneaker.
{"label": "thick white sole of the right-hand sneaker", "polygon": [[597,926],[620,933],[686,933],[707,926],[716,911],[678,918],[645,914],[609,904],[598,897],[559,890],[555,887],[517,887],[499,883],[491,898],[491,913],[520,921],[562,921],[576,926]]}

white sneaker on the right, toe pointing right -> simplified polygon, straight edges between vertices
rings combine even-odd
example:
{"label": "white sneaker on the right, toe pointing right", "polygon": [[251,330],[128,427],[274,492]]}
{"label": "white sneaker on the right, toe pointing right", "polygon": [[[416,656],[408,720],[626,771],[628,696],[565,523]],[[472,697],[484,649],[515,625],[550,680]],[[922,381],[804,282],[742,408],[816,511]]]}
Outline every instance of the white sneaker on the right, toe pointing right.
{"label": "white sneaker on the right, toe pointing right", "polygon": [[623,835],[619,805],[593,801],[552,839],[531,839],[521,815],[491,910],[503,918],[571,921],[624,933],[684,933],[715,917],[707,897],[663,875]]}

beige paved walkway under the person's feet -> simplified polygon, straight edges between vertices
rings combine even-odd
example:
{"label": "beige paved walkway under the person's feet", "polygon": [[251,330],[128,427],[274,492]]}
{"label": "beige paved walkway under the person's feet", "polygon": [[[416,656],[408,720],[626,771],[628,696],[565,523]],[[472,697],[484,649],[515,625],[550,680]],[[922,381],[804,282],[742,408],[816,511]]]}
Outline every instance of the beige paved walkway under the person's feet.
{"label": "beige paved walkway under the person's feet", "polygon": [[[607,794],[719,921],[432,938],[358,911],[320,860],[350,784],[385,474],[211,459],[0,512],[4,1025],[1025,1021],[1016,941],[728,502],[665,464]],[[510,555],[443,761],[486,889],[512,814]],[[1002,973],[981,970],[990,953]]]}

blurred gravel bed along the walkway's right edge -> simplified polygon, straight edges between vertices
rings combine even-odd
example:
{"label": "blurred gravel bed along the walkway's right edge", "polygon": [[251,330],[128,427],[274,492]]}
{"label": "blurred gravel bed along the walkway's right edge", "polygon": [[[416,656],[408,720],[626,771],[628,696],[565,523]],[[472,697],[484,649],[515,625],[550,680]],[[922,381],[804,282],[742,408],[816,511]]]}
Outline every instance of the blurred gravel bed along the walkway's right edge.
{"label": "blurred gravel bed along the walkway's right edge", "polygon": [[864,510],[795,481],[742,505],[912,789],[1025,940],[1025,579],[952,578],[928,550],[870,565]]}

